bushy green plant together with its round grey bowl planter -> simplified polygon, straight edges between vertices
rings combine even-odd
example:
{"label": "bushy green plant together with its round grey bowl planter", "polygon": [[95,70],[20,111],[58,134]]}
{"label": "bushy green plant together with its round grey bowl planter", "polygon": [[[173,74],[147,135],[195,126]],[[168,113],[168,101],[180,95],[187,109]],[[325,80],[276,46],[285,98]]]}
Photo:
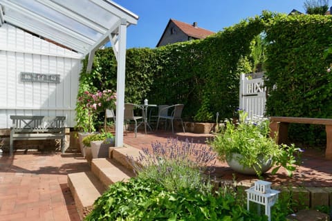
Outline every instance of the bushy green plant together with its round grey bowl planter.
{"label": "bushy green plant together with its round grey bowl planter", "polygon": [[300,149],[293,144],[278,145],[270,135],[268,119],[246,120],[248,113],[239,111],[239,122],[226,121],[211,142],[219,159],[239,173],[261,175],[275,166],[272,173],[284,167],[289,176],[296,169]]}

